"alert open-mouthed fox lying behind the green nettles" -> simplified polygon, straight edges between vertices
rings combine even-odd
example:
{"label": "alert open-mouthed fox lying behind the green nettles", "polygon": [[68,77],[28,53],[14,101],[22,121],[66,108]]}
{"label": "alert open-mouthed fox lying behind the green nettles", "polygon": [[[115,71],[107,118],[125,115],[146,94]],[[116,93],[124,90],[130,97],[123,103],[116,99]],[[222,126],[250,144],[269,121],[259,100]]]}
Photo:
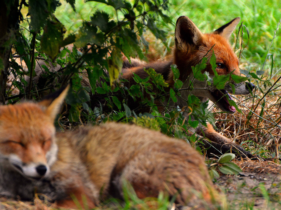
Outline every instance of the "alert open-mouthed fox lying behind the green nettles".
{"label": "alert open-mouthed fox lying behind the green nettles", "polygon": [[[235,55],[234,50],[230,46],[229,38],[235,27],[240,21],[240,17],[237,17],[227,24],[216,29],[213,33],[202,33],[197,26],[189,19],[187,16],[181,16],[176,21],[175,28],[175,47],[173,53],[163,60],[157,60],[150,63],[145,63],[138,59],[131,59],[130,61],[124,57],[122,77],[128,82],[124,85],[130,87],[135,84],[133,75],[137,74],[140,78],[144,79],[148,74],[144,69],[153,68],[157,73],[163,75],[166,83],[169,84],[167,91],[173,88],[173,72],[171,70],[171,65],[176,64],[180,77],[179,79],[183,82],[182,89],[188,89],[192,81],[193,90],[185,90],[181,92],[181,97],[177,98],[175,107],[179,106],[180,109],[186,106],[186,100],[190,94],[197,96],[201,102],[208,101],[208,108],[213,109],[214,104],[216,107],[222,111],[228,112],[230,114],[235,113],[236,109],[231,106],[228,99],[232,99],[230,94],[235,95],[246,95],[249,94],[255,88],[255,85],[251,82],[241,82],[231,83],[235,87],[235,93],[232,92],[232,86],[230,84],[225,85],[224,89],[218,90],[213,86],[213,81],[211,85],[208,85],[206,81],[199,81],[194,79],[192,66],[199,64],[203,57],[207,57],[207,66],[203,70],[204,72],[209,72],[210,78],[214,77],[214,71],[210,65],[210,57],[214,52],[216,56],[216,71],[218,75],[234,74],[239,76],[244,76],[239,70],[239,59]],[[168,100],[164,105],[167,105]],[[132,103],[134,104],[134,103]],[[159,103],[158,103],[159,104]],[[157,105],[158,105],[157,104]],[[169,102],[169,106],[171,102]],[[159,104],[158,110],[165,111],[164,107]],[[183,112],[183,117],[188,117],[188,112]],[[227,151],[232,151],[236,153],[239,157],[249,157],[256,158],[250,152],[247,152],[238,144],[230,140],[229,138],[219,134],[213,126],[207,122],[207,127],[203,125],[198,125],[196,129],[190,129],[191,133],[197,133],[209,141],[206,141],[206,148],[210,147],[209,152],[225,153]]]}

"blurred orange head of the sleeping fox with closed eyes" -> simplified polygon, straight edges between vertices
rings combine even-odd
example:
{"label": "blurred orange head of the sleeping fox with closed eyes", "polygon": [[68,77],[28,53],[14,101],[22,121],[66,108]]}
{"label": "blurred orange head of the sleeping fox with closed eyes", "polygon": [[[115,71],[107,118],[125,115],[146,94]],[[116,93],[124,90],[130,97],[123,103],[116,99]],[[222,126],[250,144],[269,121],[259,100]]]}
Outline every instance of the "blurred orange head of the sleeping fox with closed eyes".
{"label": "blurred orange head of the sleeping fox with closed eyes", "polygon": [[69,87],[41,102],[0,106],[0,166],[28,178],[50,173],[58,147],[54,120]]}

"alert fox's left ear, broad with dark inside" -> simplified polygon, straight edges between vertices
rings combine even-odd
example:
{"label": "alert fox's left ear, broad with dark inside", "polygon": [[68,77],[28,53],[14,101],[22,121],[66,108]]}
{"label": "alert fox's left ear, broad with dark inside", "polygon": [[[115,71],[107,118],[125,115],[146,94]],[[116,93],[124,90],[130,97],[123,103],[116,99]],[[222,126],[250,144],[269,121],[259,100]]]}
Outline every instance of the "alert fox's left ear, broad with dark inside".
{"label": "alert fox's left ear, broad with dark inside", "polygon": [[176,21],[175,41],[178,49],[188,50],[188,47],[197,45],[202,36],[201,31],[188,17],[181,16]]}

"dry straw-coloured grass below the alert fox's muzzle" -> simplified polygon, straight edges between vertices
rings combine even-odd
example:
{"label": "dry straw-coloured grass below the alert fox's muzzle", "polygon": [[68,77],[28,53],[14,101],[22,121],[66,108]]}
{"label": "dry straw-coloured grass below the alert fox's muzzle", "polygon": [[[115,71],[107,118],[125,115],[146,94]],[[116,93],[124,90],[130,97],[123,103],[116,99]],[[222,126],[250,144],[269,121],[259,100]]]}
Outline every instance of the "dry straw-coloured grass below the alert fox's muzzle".
{"label": "dry straw-coloured grass below the alert fox's muzzle", "polygon": [[259,103],[263,95],[257,91],[255,97],[250,99],[239,96],[236,101],[242,113],[216,113],[216,126],[223,135],[231,136],[253,153],[270,156],[274,152],[278,156],[281,144],[281,90],[268,93]]}

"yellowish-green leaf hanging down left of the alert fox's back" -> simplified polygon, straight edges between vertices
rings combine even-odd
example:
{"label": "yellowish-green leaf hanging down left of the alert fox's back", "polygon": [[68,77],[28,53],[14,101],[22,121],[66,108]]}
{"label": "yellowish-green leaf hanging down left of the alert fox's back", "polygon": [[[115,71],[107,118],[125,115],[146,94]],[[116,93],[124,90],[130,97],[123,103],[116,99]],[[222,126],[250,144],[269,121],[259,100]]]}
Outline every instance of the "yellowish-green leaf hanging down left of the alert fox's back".
{"label": "yellowish-green leaf hanging down left of the alert fox's back", "polygon": [[108,74],[109,74],[109,81],[110,86],[112,86],[113,81],[117,80],[122,69],[122,54],[119,49],[112,50],[111,58],[107,60],[108,63]]}

